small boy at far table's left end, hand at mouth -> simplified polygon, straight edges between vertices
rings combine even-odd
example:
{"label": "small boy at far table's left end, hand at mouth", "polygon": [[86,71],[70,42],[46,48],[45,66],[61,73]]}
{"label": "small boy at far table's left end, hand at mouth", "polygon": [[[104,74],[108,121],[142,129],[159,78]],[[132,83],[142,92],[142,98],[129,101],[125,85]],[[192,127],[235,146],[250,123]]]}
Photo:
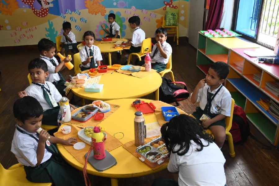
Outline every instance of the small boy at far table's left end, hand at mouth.
{"label": "small boy at far table's left end, hand at mouth", "polygon": [[60,53],[62,55],[64,55],[64,52],[68,53],[68,51],[70,50],[71,52],[78,53],[78,43],[76,41],[76,36],[75,34],[71,31],[71,23],[70,22],[64,22],[62,24],[62,28],[63,28],[63,35],[61,36],[61,51]]}

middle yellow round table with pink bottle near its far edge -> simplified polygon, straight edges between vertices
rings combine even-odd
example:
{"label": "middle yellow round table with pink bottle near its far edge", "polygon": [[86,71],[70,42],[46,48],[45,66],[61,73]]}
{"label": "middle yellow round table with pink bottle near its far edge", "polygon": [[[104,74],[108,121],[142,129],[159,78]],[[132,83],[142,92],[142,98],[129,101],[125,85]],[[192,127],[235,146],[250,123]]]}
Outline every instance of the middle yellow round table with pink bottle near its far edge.
{"label": "middle yellow round table with pink bottle near its far edge", "polygon": [[155,92],[155,100],[159,100],[159,87],[162,77],[159,73],[151,73],[144,78],[118,72],[101,75],[99,84],[104,84],[101,92],[85,92],[83,88],[72,89],[78,97],[87,100],[114,100],[121,98],[140,98]]}

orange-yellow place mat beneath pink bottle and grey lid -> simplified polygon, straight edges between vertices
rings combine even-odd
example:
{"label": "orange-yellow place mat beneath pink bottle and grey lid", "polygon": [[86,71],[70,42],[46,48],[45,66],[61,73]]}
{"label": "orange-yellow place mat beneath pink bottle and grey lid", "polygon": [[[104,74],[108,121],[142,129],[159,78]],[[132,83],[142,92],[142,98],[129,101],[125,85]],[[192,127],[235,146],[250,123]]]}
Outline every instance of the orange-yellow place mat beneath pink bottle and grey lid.
{"label": "orange-yellow place mat beneath pink bottle and grey lid", "polygon": [[[70,125],[71,128],[71,132],[67,135],[63,134],[61,131],[55,132],[54,136],[57,138],[61,138],[61,139],[69,139],[70,137],[75,137],[77,139],[78,142],[84,142],[81,139],[78,138],[78,131],[81,130],[81,128],[75,126],[75,125]],[[107,139],[104,142],[104,146],[105,149],[109,152],[112,151],[113,149],[116,149],[120,146],[122,146],[122,143],[116,139],[115,137],[113,137],[112,135],[107,134]],[[85,143],[85,142],[84,142]],[[78,162],[80,162],[82,165],[84,165],[85,163],[85,157],[84,155],[88,152],[90,145],[85,143],[85,148],[81,149],[81,150],[76,150],[73,148],[73,146],[69,146],[69,145],[63,145],[63,147],[76,159],[78,160]]]}

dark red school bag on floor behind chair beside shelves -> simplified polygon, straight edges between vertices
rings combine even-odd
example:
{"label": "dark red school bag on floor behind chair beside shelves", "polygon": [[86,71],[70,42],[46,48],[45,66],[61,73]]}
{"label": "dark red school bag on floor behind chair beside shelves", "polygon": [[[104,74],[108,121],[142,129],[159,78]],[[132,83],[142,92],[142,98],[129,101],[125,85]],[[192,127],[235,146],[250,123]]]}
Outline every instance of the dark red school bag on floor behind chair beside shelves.
{"label": "dark red school bag on floor behind chair beside shelves", "polygon": [[246,113],[242,107],[237,105],[234,105],[230,133],[232,134],[233,143],[244,143],[250,135],[250,126]]}

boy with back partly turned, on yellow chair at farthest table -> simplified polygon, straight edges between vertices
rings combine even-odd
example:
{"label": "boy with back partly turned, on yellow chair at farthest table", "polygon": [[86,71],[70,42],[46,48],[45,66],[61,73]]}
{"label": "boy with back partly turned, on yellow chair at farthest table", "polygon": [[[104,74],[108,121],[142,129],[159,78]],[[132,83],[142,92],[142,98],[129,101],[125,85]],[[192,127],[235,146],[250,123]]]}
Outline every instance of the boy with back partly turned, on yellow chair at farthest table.
{"label": "boy with back partly turned, on yellow chair at farthest table", "polygon": [[[140,52],[142,41],[145,39],[145,32],[143,29],[139,28],[140,18],[139,16],[132,16],[128,20],[131,29],[134,29],[132,33],[132,40],[129,42],[126,47],[130,47],[129,50],[124,50],[126,60],[128,59],[130,53]],[[128,54],[127,54],[128,53]]]}

